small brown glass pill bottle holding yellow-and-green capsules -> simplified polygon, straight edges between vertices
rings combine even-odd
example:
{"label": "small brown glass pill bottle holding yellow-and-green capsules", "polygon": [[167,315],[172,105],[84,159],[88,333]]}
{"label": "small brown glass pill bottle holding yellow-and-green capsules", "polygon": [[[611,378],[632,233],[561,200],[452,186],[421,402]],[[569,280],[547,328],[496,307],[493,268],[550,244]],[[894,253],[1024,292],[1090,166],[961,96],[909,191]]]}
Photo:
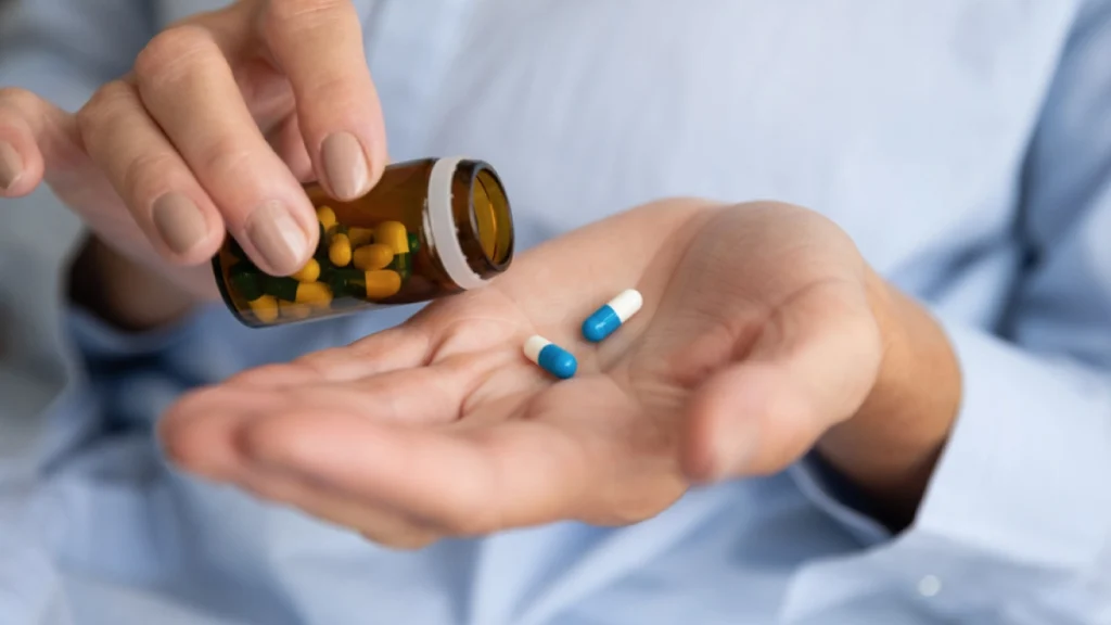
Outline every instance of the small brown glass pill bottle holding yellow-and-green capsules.
{"label": "small brown glass pill bottle holding yellow-and-green capsules", "polygon": [[270,276],[232,237],[212,258],[224,304],[252,328],[433,300],[509,268],[513,220],[494,169],[462,158],[399,162],[366,196],[304,187],[320,241],[292,276]]}

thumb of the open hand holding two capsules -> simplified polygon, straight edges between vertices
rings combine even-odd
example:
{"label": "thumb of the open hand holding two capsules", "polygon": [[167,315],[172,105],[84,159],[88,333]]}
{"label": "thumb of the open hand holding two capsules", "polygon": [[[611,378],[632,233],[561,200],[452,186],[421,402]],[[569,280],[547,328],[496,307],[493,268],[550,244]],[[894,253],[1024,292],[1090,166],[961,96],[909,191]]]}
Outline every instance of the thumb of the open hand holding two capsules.
{"label": "thumb of the open hand holding two capsules", "polygon": [[772,312],[751,350],[694,390],[682,448],[688,477],[782,470],[860,408],[881,355],[862,285],[828,281],[800,291]]}

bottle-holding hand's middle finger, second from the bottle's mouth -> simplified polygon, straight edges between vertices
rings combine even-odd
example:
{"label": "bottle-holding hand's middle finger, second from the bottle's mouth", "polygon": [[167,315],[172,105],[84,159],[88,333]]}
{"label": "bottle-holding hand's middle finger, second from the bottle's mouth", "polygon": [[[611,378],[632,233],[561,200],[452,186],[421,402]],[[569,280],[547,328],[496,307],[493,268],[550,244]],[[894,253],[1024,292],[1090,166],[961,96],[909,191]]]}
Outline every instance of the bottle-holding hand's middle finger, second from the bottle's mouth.
{"label": "bottle-holding hand's middle finger, second from the bottle's mouth", "polygon": [[261,268],[289,275],[319,236],[301,183],[267,142],[210,31],[182,26],[156,37],[136,60],[139,93]]}

